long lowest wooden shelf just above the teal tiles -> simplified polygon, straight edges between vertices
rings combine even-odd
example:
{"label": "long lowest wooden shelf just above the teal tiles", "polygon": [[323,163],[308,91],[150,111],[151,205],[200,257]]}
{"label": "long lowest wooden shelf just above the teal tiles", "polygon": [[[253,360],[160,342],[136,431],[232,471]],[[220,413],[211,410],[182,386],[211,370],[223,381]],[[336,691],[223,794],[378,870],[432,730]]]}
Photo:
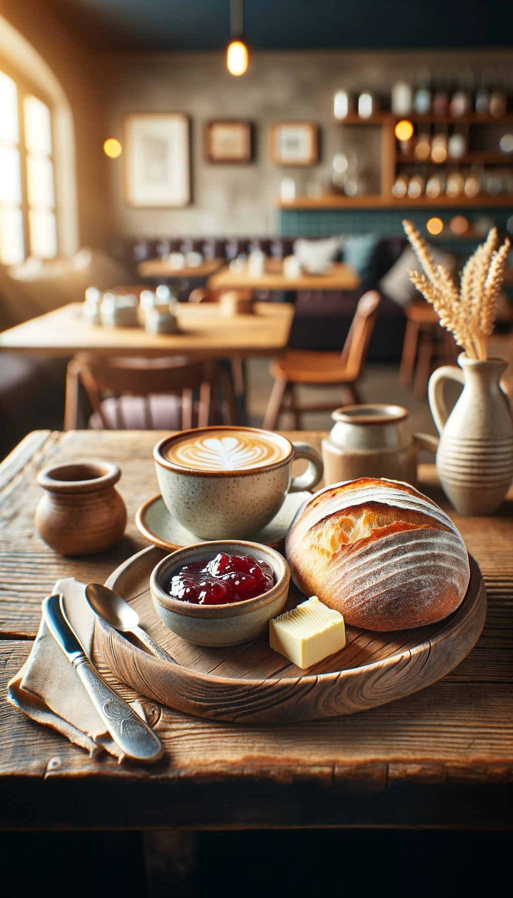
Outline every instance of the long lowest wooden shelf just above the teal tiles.
{"label": "long lowest wooden shelf just above the teal tiles", "polygon": [[278,201],[280,209],[400,209],[408,207],[468,207],[479,209],[482,207],[504,206],[510,206],[513,209],[513,197],[488,197],[483,195],[473,199],[467,197],[438,197],[437,199],[430,199],[424,196],[419,199],[412,199],[411,197],[396,199],[394,197],[385,198],[370,194],[362,194],[359,197],[341,197],[338,194],[327,194],[324,197],[296,197],[291,203],[284,203],[282,200]]}

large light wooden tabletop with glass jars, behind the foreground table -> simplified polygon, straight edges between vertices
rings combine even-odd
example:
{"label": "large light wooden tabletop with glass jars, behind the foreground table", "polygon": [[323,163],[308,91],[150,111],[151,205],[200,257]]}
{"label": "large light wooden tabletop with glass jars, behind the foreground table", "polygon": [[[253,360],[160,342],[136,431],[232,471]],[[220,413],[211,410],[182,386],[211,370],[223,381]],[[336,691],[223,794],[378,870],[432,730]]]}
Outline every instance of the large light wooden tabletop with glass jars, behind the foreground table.
{"label": "large light wooden tabletop with glass jars, behind the foreground table", "polygon": [[289,304],[256,303],[255,314],[223,318],[217,304],[180,304],[180,333],[147,334],[143,327],[95,327],[71,303],[0,333],[0,348],[50,356],[77,352],[116,356],[272,356],[287,346],[294,316]]}

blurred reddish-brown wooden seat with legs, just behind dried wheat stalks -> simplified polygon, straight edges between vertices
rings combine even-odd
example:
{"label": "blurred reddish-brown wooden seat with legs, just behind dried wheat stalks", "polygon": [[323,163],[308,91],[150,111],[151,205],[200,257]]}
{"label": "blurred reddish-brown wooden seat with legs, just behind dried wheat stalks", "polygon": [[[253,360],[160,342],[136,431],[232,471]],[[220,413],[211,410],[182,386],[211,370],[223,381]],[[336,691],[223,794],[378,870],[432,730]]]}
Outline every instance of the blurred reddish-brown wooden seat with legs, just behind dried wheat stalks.
{"label": "blurred reddish-brown wooden seat with legs, just behind dried wheat stalks", "polygon": [[413,392],[422,399],[428,393],[433,359],[438,357],[441,365],[456,365],[459,350],[453,335],[440,327],[433,306],[423,299],[406,305],[404,314],[408,321],[402,344],[399,383],[409,387],[415,373]]}

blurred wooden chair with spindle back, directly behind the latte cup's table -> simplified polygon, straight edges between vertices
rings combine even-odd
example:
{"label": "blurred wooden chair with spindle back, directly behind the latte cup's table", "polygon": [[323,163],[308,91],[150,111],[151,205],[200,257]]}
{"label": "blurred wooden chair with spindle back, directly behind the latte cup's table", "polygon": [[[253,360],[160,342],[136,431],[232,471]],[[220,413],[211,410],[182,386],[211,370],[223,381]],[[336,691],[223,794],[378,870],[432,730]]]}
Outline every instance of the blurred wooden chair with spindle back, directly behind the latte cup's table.
{"label": "blurred wooden chair with spindle back, directly behind the latte cup's table", "polygon": [[[75,357],[67,366],[65,430],[205,427],[219,412],[217,387],[226,399],[222,423],[233,424],[234,397],[228,381],[214,361]],[[80,416],[81,390],[93,410],[88,420]],[[199,391],[199,402],[193,401],[194,391]]]}

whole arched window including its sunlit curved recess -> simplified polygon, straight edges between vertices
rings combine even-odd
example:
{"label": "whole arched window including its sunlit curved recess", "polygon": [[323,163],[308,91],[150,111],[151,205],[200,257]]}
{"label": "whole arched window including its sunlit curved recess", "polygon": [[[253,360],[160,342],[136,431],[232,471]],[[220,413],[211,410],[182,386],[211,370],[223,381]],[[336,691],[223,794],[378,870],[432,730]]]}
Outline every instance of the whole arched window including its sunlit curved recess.
{"label": "whole arched window including its sunlit curved recess", "polygon": [[77,249],[71,109],[44,59],[0,16],[0,264]]}

